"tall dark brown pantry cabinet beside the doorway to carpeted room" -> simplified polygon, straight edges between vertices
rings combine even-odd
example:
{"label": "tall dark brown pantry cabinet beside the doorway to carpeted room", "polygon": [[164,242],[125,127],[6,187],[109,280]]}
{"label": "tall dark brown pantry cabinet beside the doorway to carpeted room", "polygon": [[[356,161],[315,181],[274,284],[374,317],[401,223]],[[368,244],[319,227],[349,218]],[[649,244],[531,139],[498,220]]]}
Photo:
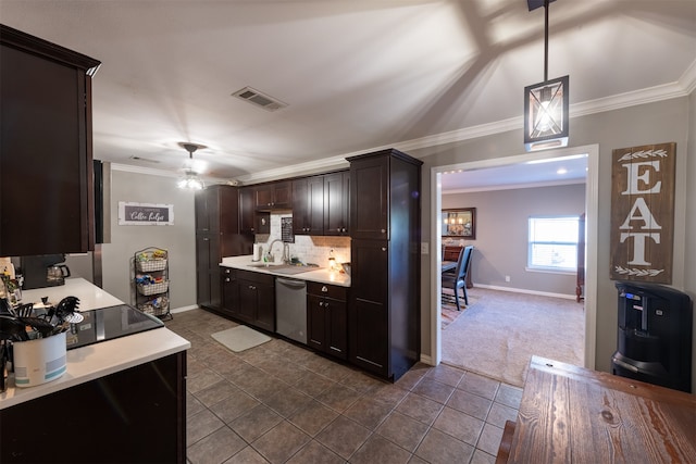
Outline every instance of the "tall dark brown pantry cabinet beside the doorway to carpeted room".
{"label": "tall dark brown pantry cabinet beside the doorway to carpeted room", "polygon": [[350,162],[348,359],[396,380],[420,359],[421,161],[390,149]]}

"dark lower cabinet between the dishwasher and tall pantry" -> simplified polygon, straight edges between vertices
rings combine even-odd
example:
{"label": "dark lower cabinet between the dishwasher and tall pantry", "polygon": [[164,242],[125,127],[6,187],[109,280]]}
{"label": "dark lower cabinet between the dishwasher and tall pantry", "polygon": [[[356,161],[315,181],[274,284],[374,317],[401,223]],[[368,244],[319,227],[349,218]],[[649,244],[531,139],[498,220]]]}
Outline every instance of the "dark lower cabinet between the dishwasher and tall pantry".
{"label": "dark lower cabinet between the dishwasher and tall pantry", "polygon": [[307,344],[341,360],[348,359],[348,289],[307,283]]}

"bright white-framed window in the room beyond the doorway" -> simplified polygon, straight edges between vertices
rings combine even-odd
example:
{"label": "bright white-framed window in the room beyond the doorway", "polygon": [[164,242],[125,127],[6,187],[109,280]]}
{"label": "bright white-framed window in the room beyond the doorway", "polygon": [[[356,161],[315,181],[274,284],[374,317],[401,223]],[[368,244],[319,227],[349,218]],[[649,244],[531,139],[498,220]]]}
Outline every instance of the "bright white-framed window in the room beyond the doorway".
{"label": "bright white-framed window in the room beyond the doorway", "polygon": [[577,269],[579,216],[530,217],[527,268]]}

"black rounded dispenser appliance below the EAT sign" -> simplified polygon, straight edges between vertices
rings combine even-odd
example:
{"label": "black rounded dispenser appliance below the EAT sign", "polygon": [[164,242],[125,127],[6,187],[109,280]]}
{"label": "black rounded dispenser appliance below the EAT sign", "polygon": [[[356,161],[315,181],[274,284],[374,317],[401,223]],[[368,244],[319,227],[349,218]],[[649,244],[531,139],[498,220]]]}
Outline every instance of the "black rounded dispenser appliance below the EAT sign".
{"label": "black rounded dispenser appliance below the EAT sign", "polygon": [[673,288],[617,283],[618,350],[616,375],[692,391],[692,301]]}

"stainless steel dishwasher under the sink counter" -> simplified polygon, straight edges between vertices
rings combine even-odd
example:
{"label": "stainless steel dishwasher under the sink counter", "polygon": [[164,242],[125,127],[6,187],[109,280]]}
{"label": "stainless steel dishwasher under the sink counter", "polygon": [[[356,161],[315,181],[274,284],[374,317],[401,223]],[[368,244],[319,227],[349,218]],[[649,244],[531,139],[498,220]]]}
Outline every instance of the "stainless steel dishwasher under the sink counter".
{"label": "stainless steel dishwasher under the sink counter", "polygon": [[275,278],[275,331],[307,344],[307,283]]}

